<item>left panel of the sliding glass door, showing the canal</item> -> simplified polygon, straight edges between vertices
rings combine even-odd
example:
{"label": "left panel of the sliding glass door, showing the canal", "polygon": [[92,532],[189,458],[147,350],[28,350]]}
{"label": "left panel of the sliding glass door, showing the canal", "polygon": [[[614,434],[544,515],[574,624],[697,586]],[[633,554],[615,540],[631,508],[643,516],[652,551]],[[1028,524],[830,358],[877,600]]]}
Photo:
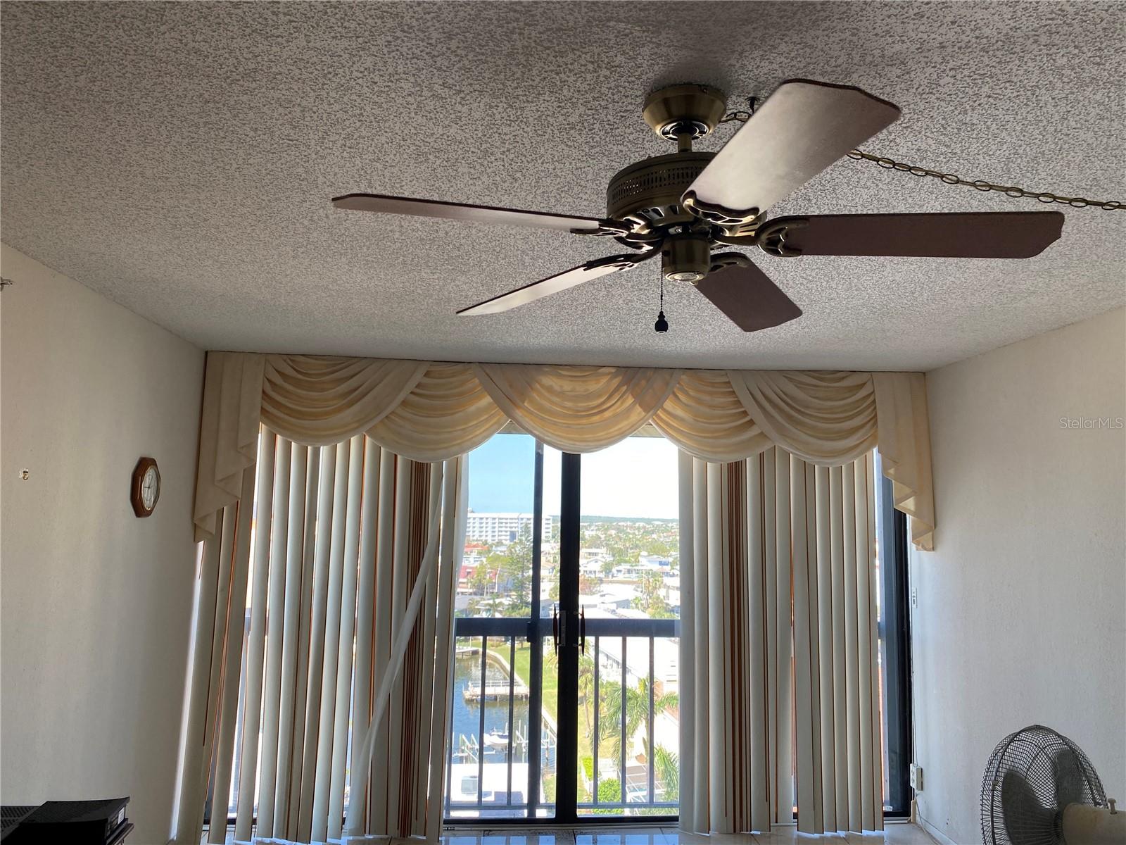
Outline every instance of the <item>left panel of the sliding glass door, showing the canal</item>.
{"label": "left panel of the sliding glass door, showing the canal", "polygon": [[[560,454],[546,456],[556,469]],[[542,445],[501,434],[470,455],[455,596],[446,817],[554,816],[558,516],[544,510]]]}

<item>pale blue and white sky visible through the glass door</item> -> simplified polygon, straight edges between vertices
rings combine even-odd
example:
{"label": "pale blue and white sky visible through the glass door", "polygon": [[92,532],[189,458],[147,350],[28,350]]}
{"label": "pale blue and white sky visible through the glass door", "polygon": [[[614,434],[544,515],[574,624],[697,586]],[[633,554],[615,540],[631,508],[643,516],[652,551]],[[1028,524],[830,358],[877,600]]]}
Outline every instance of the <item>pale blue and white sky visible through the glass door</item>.
{"label": "pale blue and white sky visible through the glass door", "polygon": [[[470,507],[531,513],[535,442],[497,435],[470,453]],[[558,514],[561,457],[544,454],[544,512]],[[677,447],[663,437],[628,437],[582,456],[582,513],[591,516],[677,517]]]}

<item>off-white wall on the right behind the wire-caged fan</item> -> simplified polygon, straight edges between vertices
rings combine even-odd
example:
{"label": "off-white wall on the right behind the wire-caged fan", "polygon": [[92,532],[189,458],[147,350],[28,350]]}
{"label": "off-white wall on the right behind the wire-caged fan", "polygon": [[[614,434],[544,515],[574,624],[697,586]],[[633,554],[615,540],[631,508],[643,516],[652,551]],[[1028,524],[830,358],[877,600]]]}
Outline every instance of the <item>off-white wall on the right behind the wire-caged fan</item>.
{"label": "off-white wall on the right behind the wire-caged fan", "polygon": [[911,570],[919,815],[981,842],[990,751],[1036,722],[1126,801],[1126,429],[1060,419],[1126,417],[1126,311],[927,381],[939,527]]}

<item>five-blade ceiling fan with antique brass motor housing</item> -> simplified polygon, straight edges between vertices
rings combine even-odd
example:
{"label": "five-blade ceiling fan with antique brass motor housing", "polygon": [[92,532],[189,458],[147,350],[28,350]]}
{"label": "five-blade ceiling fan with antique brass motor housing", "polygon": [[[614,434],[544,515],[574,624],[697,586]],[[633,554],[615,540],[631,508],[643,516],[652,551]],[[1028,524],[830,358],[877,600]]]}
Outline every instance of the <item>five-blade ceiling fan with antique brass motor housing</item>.
{"label": "five-blade ceiling fan with antique brass motor housing", "polygon": [[[688,282],[743,331],[779,326],[799,309],[742,252],[778,257],[917,256],[1028,258],[1060,237],[1058,212],[823,214],[768,220],[785,199],[852,148],[891,125],[900,109],[859,88],[783,82],[718,152],[692,151],[724,116],[726,95],[678,84],[651,94],[645,122],[677,152],[618,171],[606,217],[579,217],[378,194],[345,194],[338,208],[555,229],[613,238],[632,251],[596,258],[479,302],[458,314],[508,311],[661,256],[669,282]],[[663,318],[663,313],[662,313]],[[660,321],[659,321],[660,322]]]}

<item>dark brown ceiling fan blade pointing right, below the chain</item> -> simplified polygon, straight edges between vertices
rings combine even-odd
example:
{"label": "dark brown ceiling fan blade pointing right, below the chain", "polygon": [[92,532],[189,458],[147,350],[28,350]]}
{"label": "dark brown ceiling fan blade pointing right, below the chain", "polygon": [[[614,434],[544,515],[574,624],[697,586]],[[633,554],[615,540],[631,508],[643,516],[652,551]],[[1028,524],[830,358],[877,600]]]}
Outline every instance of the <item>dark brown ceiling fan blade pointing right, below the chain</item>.
{"label": "dark brown ceiling fan blade pointing right, below the chain", "polygon": [[785,229],[784,247],[807,256],[1029,258],[1060,238],[1063,214],[822,214],[767,226]]}

